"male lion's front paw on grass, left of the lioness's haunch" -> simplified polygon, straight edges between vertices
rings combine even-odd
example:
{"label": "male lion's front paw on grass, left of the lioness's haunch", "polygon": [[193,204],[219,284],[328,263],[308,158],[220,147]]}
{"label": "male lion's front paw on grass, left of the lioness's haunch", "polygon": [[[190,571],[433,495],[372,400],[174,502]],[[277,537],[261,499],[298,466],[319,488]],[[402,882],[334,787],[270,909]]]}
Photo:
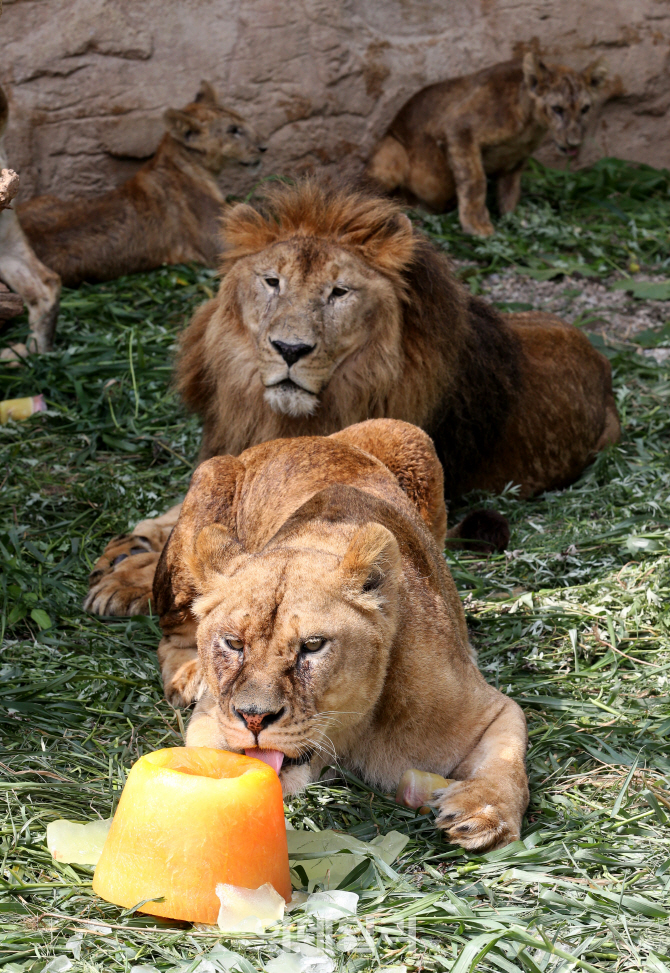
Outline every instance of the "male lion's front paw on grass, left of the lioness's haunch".
{"label": "male lion's front paw on grass, left of the lioness's haunch", "polygon": [[84,610],[97,615],[146,615],[160,552],[148,537],[114,537],[88,576]]}

